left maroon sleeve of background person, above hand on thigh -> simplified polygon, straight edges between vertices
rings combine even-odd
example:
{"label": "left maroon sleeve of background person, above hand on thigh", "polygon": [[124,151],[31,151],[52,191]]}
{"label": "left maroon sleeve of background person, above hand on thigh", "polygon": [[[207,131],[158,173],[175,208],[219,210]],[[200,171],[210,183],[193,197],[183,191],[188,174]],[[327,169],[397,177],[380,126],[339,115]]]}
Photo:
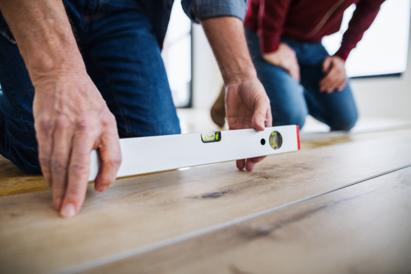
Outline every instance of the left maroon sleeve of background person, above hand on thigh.
{"label": "left maroon sleeve of background person, above hand on thigh", "polygon": [[260,0],[258,36],[262,53],[271,53],[278,49],[290,3],[291,0]]}

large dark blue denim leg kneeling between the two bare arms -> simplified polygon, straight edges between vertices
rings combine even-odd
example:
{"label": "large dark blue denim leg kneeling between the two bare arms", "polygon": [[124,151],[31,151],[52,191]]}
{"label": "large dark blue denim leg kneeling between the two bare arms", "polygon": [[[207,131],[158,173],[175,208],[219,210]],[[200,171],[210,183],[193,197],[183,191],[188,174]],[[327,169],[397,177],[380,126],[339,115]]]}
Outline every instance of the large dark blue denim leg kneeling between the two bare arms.
{"label": "large dark blue denim leg kneeling between the two bare arms", "polygon": [[179,119],[139,1],[95,1],[79,34],[87,72],[116,116],[121,138],[179,134]]}

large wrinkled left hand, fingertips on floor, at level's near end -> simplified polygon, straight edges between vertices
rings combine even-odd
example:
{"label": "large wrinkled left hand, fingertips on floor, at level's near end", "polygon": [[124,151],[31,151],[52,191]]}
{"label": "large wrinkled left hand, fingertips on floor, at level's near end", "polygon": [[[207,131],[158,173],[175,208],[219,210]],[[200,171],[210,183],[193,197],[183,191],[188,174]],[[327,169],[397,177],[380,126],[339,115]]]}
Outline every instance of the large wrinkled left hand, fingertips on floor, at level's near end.
{"label": "large wrinkled left hand, fingertips on floor, at level's near end", "polygon": [[102,165],[95,189],[116,179],[121,163],[116,119],[86,72],[53,73],[36,79],[33,103],[38,157],[53,203],[62,216],[82,208],[90,152],[99,149]]}

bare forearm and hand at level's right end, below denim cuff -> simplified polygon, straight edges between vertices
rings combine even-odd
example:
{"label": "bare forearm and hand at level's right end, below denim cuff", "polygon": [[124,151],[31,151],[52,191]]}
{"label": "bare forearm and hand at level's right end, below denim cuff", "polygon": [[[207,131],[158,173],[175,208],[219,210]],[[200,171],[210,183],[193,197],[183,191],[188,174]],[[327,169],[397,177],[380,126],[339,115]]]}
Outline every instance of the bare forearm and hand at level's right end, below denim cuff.
{"label": "bare forearm and hand at level's right end, below denim cuff", "polygon": [[[201,21],[223,75],[229,129],[263,130],[272,124],[270,101],[257,78],[239,18],[223,16]],[[251,171],[264,157],[238,160]]]}

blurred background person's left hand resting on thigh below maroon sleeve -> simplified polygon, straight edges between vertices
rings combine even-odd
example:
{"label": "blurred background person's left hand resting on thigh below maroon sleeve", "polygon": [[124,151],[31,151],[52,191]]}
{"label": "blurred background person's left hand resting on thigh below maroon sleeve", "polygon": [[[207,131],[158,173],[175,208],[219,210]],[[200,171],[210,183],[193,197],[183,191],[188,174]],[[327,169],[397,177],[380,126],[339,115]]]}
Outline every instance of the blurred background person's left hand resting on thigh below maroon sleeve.
{"label": "blurred background person's left hand resting on thigh below maroon sleeve", "polygon": [[291,49],[287,44],[279,44],[277,51],[274,51],[273,53],[265,53],[262,55],[262,58],[271,64],[281,66],[290,73],[292,78],[298,82],[300,81],[297,55],[295,55],[294,49]]}

